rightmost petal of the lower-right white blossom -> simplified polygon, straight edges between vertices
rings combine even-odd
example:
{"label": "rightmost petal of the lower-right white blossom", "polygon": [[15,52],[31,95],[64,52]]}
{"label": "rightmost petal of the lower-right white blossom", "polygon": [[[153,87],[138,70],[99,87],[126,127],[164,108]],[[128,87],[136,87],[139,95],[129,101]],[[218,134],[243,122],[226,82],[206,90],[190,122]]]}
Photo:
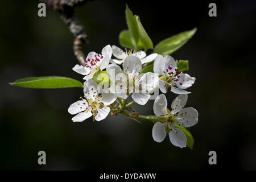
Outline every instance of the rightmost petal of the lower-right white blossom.
{"label": "rightmost petal of the lower-right white blossom", "polygon": [[177,122],[183,127],[191,127],[198,122],[198,112],[193,107],[187,107],[179,111]]}

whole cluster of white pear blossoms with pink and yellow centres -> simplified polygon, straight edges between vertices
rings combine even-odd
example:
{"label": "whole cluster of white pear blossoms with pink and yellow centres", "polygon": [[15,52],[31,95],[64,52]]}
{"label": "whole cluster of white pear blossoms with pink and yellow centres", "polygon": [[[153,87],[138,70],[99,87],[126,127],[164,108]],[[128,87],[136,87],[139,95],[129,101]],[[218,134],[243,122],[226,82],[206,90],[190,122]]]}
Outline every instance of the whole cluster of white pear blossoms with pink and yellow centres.
{"label": "whole cluster of white pear blossoms with pink and yellow centres", "polygon": [[[141,73],[144,65],[152,61],[153,72]],[[191,93],[185,89],[191,87],[196,78],[177,70],[176,61],[169,55],[152,53],[147,56],[144,51],[123,51],[110,45],[105,46],[101,54],[89,52],[84,65],[73,67],[73,71],[84,75],[84,96],[69,106],[68,112],[75,115],[73,122],[82,122],[89,117],[93,117],[93,121],[101,121],[110,113],[122,114],[123,108],[130,109],[123,106],[129,96],[134,103],[143,106],[152,98],[152,93],[160,89],[162,94],[155,98],[152,108],[155,114],[153,117],[157,121],[152,128],[152,138],[155,142],[162,142],[168,134],[174,146],[183,148],[187,145],[187,138],[182,129],[198,121],[196,109],[184,108],[188,94]],[[94,78],[94,74],[98,73],[108,76],[104,88]],[[178,94],[170,110],[165,96],[169,89]],[[138,117],[138,114],[134,117]]]}

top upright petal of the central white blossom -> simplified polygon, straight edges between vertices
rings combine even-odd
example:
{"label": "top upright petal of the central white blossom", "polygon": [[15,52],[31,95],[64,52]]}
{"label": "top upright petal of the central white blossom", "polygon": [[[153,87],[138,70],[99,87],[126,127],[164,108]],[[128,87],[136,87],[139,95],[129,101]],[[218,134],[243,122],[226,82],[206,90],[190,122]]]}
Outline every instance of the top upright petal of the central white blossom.
{"label": "top upright petal of the central white blossom", "polygon": [[127,75],[134,75],[135,73],[141,72],[141,59],[137,56],[127,56],[125,61],[123,61],[123,70]]}

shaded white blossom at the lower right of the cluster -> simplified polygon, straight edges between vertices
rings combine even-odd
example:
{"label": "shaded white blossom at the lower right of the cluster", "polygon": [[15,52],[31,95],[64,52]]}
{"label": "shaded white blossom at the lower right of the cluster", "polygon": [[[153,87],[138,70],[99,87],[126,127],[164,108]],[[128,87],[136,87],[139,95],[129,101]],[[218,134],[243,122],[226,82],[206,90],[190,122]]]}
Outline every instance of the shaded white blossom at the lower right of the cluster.
{"label": "shaded white blossom at the lower right of the cluster", "polygon": [[156,142],[162,142],[166,138],[167,131],[171,143],[183,148],[187,144],[187,138],[183,131],[175,126],[191,127],[198,121],[198,112],[193,107],[183,108],[187,102],[188,95],[179,95],[172,102],[172,110],[167,109],[167,100],[164,94],[156,97],[154,102],[154,113],[161,122],[156,122],[152,129],[152,137]]}

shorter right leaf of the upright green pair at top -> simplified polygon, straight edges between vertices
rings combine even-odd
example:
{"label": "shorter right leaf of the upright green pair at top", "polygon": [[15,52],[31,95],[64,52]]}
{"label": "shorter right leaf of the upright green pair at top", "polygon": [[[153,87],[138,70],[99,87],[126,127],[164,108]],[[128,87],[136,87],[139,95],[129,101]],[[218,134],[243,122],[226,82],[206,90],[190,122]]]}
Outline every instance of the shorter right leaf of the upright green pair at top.
{"label": "shorter right leaf of the upright green pair at top", "polygon": [[139,32],[139,38],[141,39],[141,42],[144,46],[144,51],[146,52],[147,49],[153,48],[153,43],[152,43],[150,37],[147,35],[147,32],[144,30],[144,28],[141,24],[141,20],[139,19],[139,16],[135,15],[134,20],[136,23],[136,27],[138,28],[137,30]]}

